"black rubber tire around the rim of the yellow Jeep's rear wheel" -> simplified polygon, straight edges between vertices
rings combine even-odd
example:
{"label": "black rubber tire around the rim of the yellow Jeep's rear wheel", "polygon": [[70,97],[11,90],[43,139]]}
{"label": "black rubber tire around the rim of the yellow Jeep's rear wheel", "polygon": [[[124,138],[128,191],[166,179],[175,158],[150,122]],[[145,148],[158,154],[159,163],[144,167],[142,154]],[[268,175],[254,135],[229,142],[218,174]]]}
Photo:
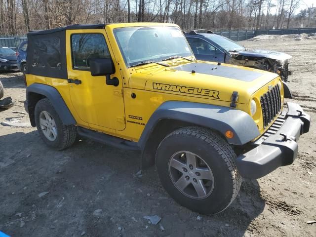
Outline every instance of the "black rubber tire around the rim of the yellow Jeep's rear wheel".
{"label": "black rubber tire around the rim of the yellow Jeep's rear wheel", "polygon": [[[54,141],[48,140],[44,135],[43,130],[40,126],[40,115],[41,112],[48,112],[51,118],[53,118],[56,127],[56,138]],[[75,125],[64,125],[62,120],[59,118],[55,108],[48,99],[41,99],[35,106],[35,123],[40,133],[40,137],[43,142],[54,150],[63,150],[73,145],[76,140],[77,130]]]}

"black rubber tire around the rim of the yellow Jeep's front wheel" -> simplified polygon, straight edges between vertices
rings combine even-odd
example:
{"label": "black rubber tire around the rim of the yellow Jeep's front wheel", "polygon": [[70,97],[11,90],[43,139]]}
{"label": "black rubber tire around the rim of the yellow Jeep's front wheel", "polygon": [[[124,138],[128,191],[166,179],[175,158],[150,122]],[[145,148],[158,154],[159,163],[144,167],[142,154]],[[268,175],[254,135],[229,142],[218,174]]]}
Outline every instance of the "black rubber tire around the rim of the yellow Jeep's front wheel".
{"label": "black rubber tire around the rim of the yellow Jeep's front wheel", "polygon": [[[201,158],[211,170],[213,186],[210,186],[212,191],[207,197],[188,197],[176,187],[169,164],[180,151],[196,154],[195,159]],[[180,128],[161,141],[156,153],[156,167],[162,186],[179,204],[199,213],[216,214],[225,210],[239,192],[242,179],[235,159],[235,152],[219,133],[193,126]],[[180,176],[184,175],[180,173]]]}

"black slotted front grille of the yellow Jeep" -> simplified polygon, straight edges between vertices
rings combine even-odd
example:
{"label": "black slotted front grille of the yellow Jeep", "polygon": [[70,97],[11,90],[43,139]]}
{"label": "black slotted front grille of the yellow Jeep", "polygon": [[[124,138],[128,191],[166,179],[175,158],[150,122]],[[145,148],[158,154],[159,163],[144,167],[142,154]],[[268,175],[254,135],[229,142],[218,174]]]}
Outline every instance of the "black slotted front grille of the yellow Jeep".
{"label": "black slotted front grille of the yellow Jeep", "polygon": [[260,103],[263,116],[263,126],[266,128],[279,114],[282,102],[278,85],[272,87],[267,93],[260,96]]}

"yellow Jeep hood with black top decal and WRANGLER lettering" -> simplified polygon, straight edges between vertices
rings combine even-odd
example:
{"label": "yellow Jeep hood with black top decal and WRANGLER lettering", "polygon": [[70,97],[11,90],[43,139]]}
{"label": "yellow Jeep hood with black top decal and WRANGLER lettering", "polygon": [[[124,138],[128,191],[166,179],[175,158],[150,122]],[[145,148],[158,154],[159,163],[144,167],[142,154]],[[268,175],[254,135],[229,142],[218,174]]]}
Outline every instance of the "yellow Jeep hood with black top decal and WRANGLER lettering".
{"label": "yellow Jeep hood with black top decal and WRANGLER lettering", "polygon": [[131,87],[136,85],[141,88],[140,82],[145,81],[145,90],[226,102],[230,102],[233,92],[237,91],[238,103],[242,104],[248,104],[255,91],[278,77],[274,73],[252,68],[206,62],[188,63],[163,70],[156,65],[136,71],[131,76]]}

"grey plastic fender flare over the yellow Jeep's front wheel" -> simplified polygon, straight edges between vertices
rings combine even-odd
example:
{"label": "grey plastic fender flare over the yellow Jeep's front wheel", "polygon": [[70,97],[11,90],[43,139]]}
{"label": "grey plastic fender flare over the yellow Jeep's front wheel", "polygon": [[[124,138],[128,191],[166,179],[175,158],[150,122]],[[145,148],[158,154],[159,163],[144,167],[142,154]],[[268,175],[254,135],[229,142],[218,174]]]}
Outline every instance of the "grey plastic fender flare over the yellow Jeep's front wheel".
{"label": "grey plastic fender flare over the yellow Jeep's front wheel", "polygon": [[224,136],[227,130],[231,130],[234,137],[227,138],[227,141],[232,145],[243,145],[260,135],[254,120],[241,110],[195,102],[167,101],[148,120],[138,141],[142,150],[161,119],[174,119],[208,127],[218,130]]}

